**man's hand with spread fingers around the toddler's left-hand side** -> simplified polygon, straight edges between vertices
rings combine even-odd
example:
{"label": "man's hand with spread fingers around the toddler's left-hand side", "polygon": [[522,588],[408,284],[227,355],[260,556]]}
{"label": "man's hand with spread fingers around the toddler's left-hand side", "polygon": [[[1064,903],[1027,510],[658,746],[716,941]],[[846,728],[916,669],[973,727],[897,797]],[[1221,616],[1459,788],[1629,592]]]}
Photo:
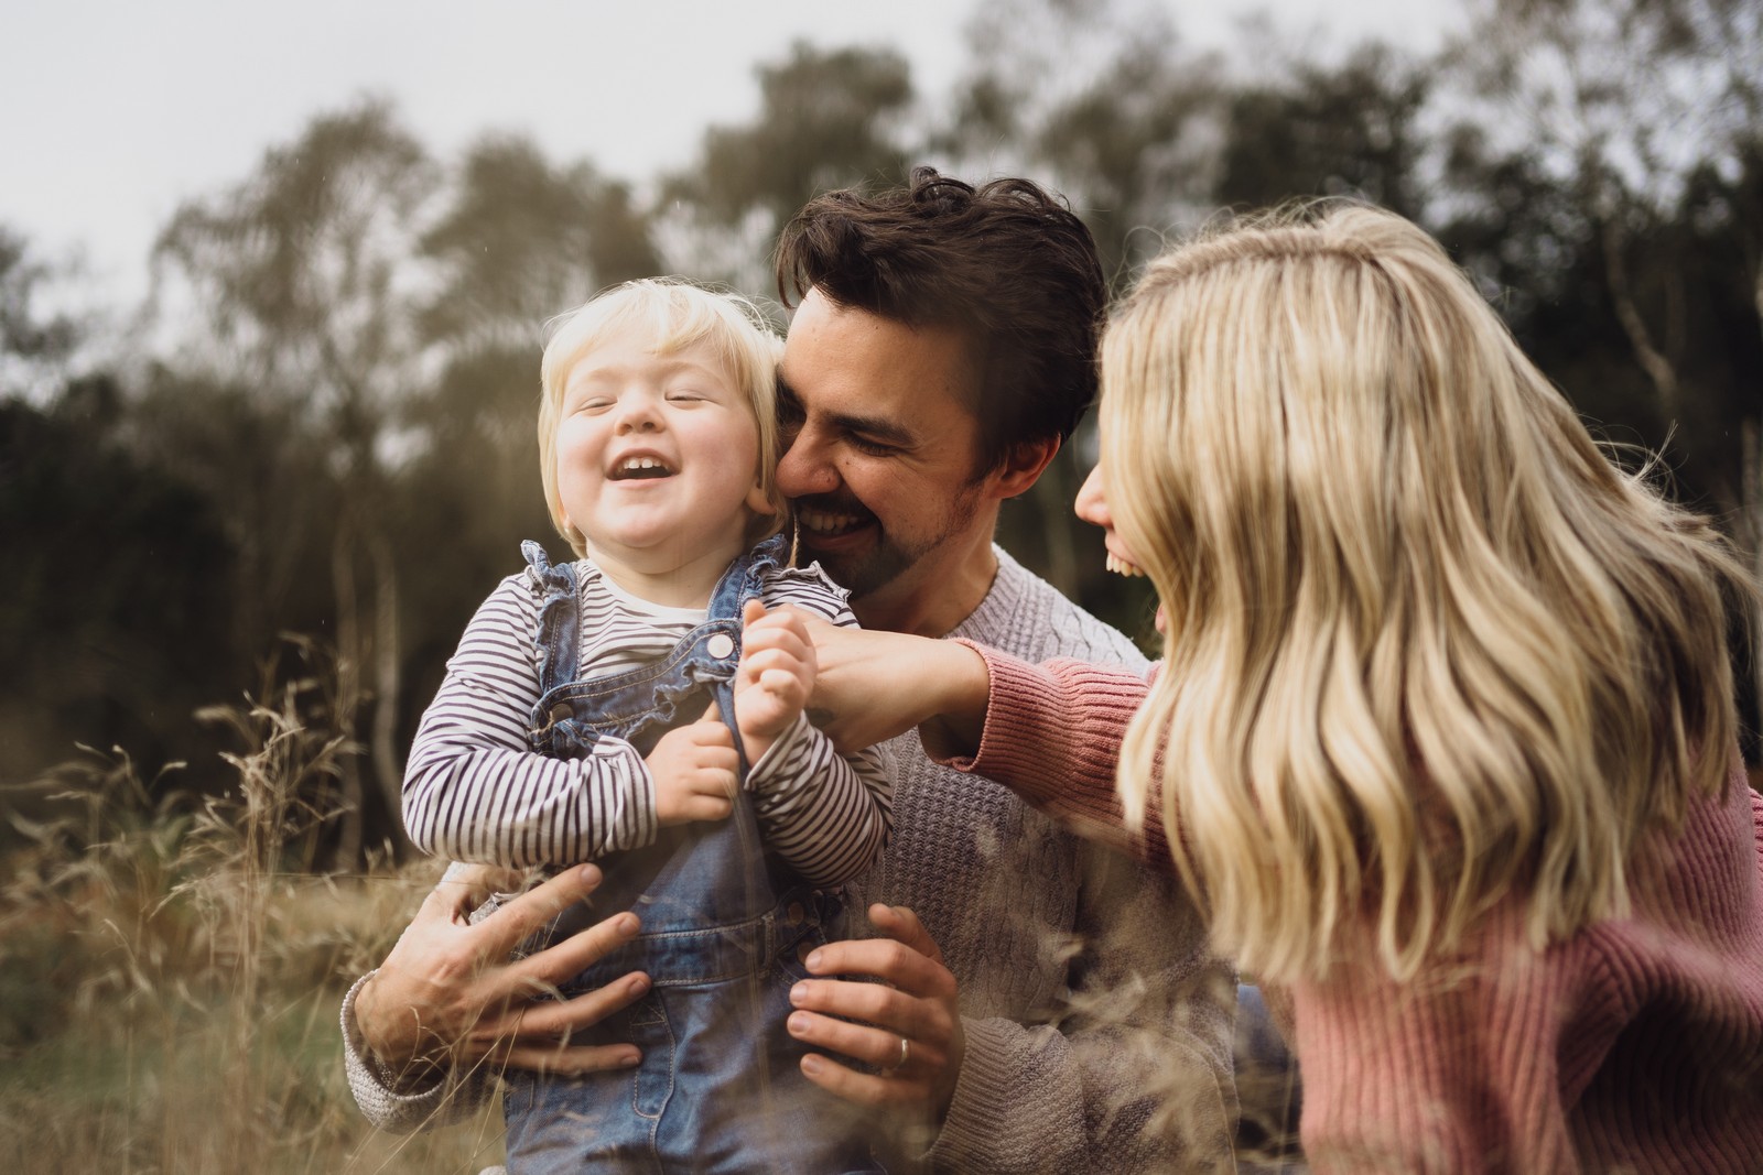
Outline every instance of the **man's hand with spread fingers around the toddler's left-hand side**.
{"label": "man's hand with spread fingers around the toddler's left-hand side", "polygon": [[592,1073],[636,1064],[631,1045],[571,1045],[649,990],[631,972],[568,1001],[541,999],[638,932],[635,914],[614,914],[547,950],[510,962],[524,939],[599,886],[599,868],[569,868],[483,921],[467,921],[490,890],[518,874],[478,867],[435,886],[379,971],[354,999],[365,1050],[398,1075],[398,1089],[425,1089],[448,1069],[492,1060],[515,1069]]}

